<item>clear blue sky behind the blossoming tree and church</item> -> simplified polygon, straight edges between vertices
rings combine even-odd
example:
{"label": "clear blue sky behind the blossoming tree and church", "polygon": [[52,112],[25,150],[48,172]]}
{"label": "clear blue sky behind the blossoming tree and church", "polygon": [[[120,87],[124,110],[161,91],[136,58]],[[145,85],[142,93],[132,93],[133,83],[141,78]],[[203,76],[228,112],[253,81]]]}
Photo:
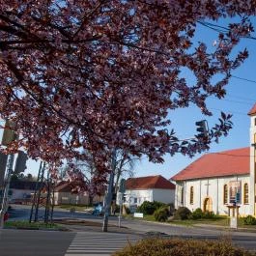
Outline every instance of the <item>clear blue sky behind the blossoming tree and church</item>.
{"label": "clear blue sky behind the blossoming tree and church", "polygon": [[[256,29],[256,19],[253,20]],[[219,25],[226,25],[227,20],[218,22]],[[256,36],[253,33],[252,36]],[[213,47],[214,40],[217,39],[217,33],[213,30],[198,25],[194,42],[204,41],[210,47]],[[209,99],[208,106],[213,111],[213,117],[208,118],[210,126],[217,122],[220,110],[233,114],[234,128],[227,137],[220,139],[219,144],[212,144],[210,152],[218,152],[229,149],[241,148],[249,146],[249,117],[247,112],[256,102],[256,40],[243,39],[236,50],[247,48],[249,58],[244,62],[241,68],[233,72],[233,75],[245,79],[253,80],[249,82],[232,77],[227,88],[227,95],[224,100]],[[187,74],[188,80],[192,79]],[[200,110],[194,106],[189,108],[175,110],[170,113],[172,120],[171,128],[175,128],[180,138],[193,137],[195,133],[196,121],[205,119]],[[181,171],[187,164],[195,160],[201,155],[189,158],[188,156],[165,156],[163,164],[151,163],[146,157],[143,157],[135,166],[135,176],[162,175],[170,178]],[[29,160],[26,173],[37,175],[39,163]]]}

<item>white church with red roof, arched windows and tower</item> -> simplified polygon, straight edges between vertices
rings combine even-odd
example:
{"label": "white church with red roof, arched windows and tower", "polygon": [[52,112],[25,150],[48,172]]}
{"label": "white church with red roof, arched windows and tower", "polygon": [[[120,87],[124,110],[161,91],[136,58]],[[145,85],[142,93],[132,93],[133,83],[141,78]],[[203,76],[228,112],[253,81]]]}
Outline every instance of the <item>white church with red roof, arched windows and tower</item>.
{"label": "white church with red roof, arched windows and tower", "polygon": [[256,216],[256,104],[248,116],[249,147],[206,154],[171,178],[176,209],[228,214],[228,206],[237,205],[241,216]]}

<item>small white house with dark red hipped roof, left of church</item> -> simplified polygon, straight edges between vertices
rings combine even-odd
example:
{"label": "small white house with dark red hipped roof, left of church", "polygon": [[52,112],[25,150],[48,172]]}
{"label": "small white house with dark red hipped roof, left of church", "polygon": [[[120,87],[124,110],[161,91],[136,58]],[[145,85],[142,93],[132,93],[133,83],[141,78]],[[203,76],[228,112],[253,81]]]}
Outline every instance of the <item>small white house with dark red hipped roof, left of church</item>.
{"label": "small white house with dark red hipped roof, left of church", "polygon": [[136,208],[144,201],[174,204],[175,185],[160,175],[129,178],[125,194],[124,204],[128,208]]}

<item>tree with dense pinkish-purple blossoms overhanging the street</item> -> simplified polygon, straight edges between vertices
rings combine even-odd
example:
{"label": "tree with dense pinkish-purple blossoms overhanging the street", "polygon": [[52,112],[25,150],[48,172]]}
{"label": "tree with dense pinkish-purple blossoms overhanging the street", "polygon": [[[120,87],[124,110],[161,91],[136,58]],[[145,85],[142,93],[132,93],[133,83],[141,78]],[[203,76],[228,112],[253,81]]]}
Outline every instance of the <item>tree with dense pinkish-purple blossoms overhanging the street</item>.
{"label": "tree with dense pinkish-purple blossoms overhanging the street", "polygon": [[[155,162],[208,149],[232,127],[229,115],[209,136],[183,142],[167,113],[193,103],[212,115],[206,100],[224,98],[231,71],[247,57],[246,50],[230,55],[253,30],[255,7],[240,0],[0,0],[0,116],[20,134],[2,150],[24,147],[53,165],[89,151],[104,182],[115,149]],[[219,34],[213,51],[192,43],[198,21],[234,15],[241,21]]]}

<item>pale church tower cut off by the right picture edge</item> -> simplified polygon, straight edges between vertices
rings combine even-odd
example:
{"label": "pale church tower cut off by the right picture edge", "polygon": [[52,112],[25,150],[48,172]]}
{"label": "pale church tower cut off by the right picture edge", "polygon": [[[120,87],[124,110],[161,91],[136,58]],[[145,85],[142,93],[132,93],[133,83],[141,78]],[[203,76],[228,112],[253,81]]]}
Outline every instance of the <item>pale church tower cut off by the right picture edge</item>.
{"label": "pale church tower cut off by the right picture edge", "polygon": [[250,116],[250,213],[256,216],[256,103],[248,112]]}

